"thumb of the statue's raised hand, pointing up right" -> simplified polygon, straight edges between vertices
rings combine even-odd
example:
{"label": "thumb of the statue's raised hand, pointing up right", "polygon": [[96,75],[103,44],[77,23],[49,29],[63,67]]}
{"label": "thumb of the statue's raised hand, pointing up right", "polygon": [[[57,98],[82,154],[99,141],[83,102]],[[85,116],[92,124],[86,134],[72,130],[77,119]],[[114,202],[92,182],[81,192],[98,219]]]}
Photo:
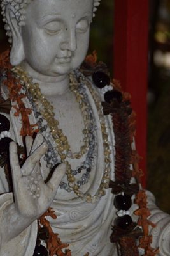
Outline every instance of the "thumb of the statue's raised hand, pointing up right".
{"label": "thumb of the statue's raised hand, pointing up right", "polygon": [[55,168],[51,179],[46,183],[46,186],[52,189],[54,193],[57,192],[59,184],[66,173],[66,169],[66,164],[59,164],[59,166]]}

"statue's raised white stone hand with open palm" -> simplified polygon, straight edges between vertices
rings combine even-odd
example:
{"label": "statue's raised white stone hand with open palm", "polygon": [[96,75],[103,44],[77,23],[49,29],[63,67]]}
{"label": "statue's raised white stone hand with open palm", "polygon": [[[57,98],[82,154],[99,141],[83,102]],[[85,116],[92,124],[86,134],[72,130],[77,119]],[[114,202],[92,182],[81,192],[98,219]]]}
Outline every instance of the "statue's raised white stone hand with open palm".
{"label": "statue's raised white stone hand with open palm", "polygon": [[43,214],[52,203],[60,181],[66,173],[66,164],[60,164],[51,179],[45,184],[41,175],[39,160],[45,154],[47,145],[43,136],[38,134],[35,140],[26,137],[27,159],[20,168],[17,145],[10,143],[10,164],[13,179],[13,193],[18,212],[32,220]]}

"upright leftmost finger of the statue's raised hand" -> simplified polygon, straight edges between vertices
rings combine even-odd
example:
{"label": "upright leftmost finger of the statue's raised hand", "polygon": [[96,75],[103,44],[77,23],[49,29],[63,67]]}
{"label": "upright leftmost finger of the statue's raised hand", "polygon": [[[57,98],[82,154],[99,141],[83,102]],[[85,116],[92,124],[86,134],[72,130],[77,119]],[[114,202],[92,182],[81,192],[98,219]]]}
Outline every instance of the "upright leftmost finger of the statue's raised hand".
{"label": "upright leftmost finger of the statue's raised hand", "polygon": [[21,177],[22,173],[20,172],[17,145],[15,142],[10,143],[10,165],[13,179]]}

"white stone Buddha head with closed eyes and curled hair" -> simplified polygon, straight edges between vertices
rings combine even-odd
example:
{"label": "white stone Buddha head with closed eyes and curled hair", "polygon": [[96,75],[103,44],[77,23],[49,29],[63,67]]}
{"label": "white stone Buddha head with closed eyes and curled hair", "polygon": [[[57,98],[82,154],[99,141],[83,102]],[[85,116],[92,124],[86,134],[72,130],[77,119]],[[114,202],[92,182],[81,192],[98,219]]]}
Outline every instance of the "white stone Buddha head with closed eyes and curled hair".
{"label": "white stone Buddha head with closed eyes and curled hair", "polygon": [[47,76],[81,65],[89,46],[89,27],[100,0],[1,0],[12,43],[10,61],[22,61]]}

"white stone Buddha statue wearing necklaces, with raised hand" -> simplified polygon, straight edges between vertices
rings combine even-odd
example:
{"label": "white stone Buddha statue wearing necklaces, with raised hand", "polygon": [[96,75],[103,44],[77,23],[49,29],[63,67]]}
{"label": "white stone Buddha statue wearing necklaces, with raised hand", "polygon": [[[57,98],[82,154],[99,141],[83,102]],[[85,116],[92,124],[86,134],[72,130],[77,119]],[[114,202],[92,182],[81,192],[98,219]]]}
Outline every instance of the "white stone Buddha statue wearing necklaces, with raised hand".
{"label": "white stone Buddha statue wearing necklaces, with raised hand", "polygon": [[[9,150],[13,189],[4,168],[0,173],[2,256],[36,255],[37,219],[48,207],[57,215],[48,218],[53,232],[69,244],[73,256],[116,256],[111,225],[122,215],[137,221],[136,204],[119,213],[113,205],[108,182],[115,180],[117,152],[111,115],[103,115],[103,91],[78,69],[87,54],[98,5],[97,0],[1,1],[12,44],[10,63],[15,67],[12,76],[3,73],[1,81],[2,97],[13,99],[10,114],[0,116],[10,122],[0,143],[6,136],[13,140]],[[13,85],[18,86],[19,97],[3,83],[10,76],[18,79]],[[111,90],[108,84],[106,91]],[[29,132],[24,129],[27,123]],[[16,143],[25,145],[24,164],[19,163]],[[158,222],[150,231],[153,246],[160,246],[160,255],[169,255],[170,218],[157,209],[150,194],[148,202],[151,220]]]}

